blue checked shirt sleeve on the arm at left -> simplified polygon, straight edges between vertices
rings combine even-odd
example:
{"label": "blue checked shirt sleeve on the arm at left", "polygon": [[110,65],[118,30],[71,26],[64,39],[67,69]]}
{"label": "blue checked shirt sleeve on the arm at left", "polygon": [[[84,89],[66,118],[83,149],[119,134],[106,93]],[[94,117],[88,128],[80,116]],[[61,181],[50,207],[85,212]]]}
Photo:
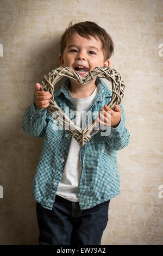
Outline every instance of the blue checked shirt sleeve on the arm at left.
{"label": "blue checked shirt sleeve on the arm at left", "polygon": [[30,106],[26,109],[23,116],[22,129],[29,135],[41,138],[47,126],[47,110],[46,108],[37,108],[34,103],[34,96]]}

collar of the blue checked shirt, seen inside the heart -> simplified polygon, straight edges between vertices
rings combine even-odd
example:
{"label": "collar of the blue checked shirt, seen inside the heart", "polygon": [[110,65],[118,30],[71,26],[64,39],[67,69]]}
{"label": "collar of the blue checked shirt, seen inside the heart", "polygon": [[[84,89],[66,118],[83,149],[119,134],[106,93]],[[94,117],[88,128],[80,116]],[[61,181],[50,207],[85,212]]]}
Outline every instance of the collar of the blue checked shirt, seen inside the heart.
{"label": "collar of the blue checked shirt, seen inside the heart", "polygon": [[[95,84],[98,87],[97,99],[99,101],[102,101],[103,97],[111,97],[112,95],[111,90],[109,90],[108,86],[104,83],[104,81],[101,78],[97,77]],[[58,97],[61,93],[63,93],[67,99],[71,100],[70,97],[68,96],[69,85],[70,85],[70,78],[66,78],[61,88],[54,90],[54,96]]]}

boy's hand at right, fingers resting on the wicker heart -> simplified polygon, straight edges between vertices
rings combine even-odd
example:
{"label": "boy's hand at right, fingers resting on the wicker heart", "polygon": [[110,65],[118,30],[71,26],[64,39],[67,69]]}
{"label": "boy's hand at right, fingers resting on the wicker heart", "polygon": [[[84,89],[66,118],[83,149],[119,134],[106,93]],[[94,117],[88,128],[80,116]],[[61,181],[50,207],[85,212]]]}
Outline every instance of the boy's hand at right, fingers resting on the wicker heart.
{"label": "boy's hand at right, fingers resting on the wicker heart", "polygon": [[[111,127],[117,127],[118,124],[120,124],[121,121],[121,108],[117,105],[115,105],[115,111],[109,108],[107,105],[104,106],[104,108],[101,108],[99,112],[99,117],[97,117],[97,120],[99,123],[105,126],[111,126]],[[109,111],[109,112],[106,112]]]}

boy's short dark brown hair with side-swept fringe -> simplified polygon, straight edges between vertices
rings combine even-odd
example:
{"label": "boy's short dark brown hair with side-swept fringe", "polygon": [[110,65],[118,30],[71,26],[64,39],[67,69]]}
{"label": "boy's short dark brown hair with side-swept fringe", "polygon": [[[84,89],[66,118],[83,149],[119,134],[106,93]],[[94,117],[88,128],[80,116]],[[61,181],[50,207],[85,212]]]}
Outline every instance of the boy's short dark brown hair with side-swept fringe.
{"label": "boy's short dark brown hair with side-swept fringe", "polygon": [[66,48],[67,38],[69,38],[74,33],[78,33],[84,38],[90,39],[93,36],[96,40],[99,39],[102,42],[102,50],[104,53],[104,61],[109,59],[114,53],[114,42],[111,36],[106,33],[105,29],[99,27],[95,22],[84,21],[72,25],[72,21],[69,23],[68,28],[66,28],[64,34],[62,34],[60,40],[60,53],[63,55]]}

